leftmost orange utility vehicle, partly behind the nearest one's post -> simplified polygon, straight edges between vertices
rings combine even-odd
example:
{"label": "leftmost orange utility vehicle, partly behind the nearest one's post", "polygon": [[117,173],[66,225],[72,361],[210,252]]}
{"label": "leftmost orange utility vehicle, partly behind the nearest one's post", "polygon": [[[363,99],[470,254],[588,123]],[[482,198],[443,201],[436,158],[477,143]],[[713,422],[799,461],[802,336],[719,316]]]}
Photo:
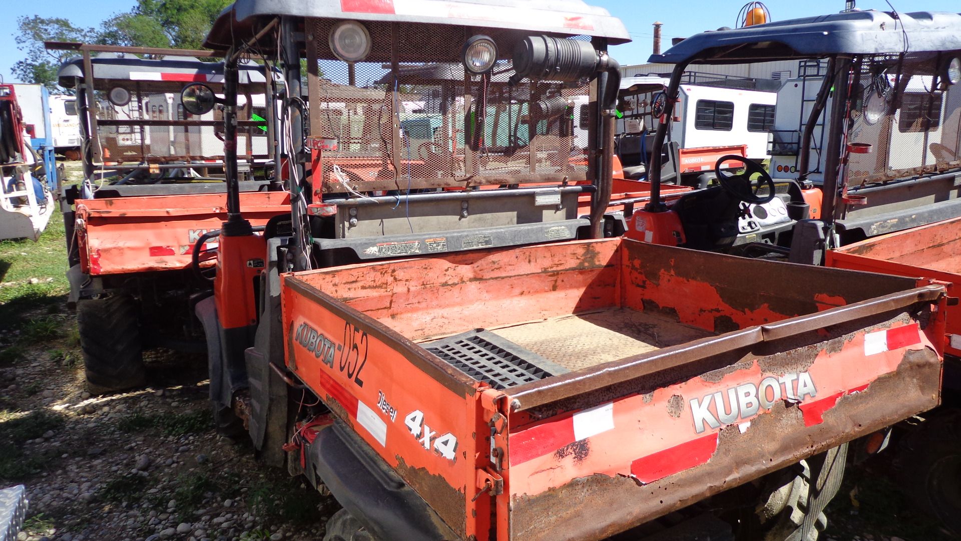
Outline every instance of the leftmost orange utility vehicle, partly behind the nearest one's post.
{"label": "leftmost orange utility vehicle, partly behind the nearest one's post", "polygon": [[[191,81],[219,90],[222,64],[202,62],[215,60],[209,51],[47,46],[82,53],[58,77],[77,90],[83,135],[84,181],[64,187],[60,201],[87,388],[136,387],[143,349],[204,348],[193,304],[210,282],[206,258],[192,252],[198,242],[212,247],[227,217],[223,120],[220,111],[185,112],[180,90]],[[289,197],[264,178],[274,138],[263,71],[247,63],[239,77],[239,197],[262,227],[289,212]]]}

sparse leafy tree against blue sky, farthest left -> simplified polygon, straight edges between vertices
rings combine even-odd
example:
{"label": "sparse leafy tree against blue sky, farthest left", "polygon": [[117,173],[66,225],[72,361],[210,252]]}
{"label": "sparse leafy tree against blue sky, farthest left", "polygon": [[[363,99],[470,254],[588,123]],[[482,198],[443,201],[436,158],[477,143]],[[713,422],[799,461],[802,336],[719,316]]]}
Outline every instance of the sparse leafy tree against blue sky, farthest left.
{"label": "sparse leafy tree against blue sky, farthest left", "polygon": [[82,41],[96,39],[97,32],[92,28],[79,28],[60,17],[21,16],[16,19],[19,32],[14,38],[17,48],[27,57],[13,64],[13,76],[24,83],[45,85],[48,89],[62,91],[57,86],[57,70],[68,58],[75,56],[72,51],[48,51],[43,41]]}

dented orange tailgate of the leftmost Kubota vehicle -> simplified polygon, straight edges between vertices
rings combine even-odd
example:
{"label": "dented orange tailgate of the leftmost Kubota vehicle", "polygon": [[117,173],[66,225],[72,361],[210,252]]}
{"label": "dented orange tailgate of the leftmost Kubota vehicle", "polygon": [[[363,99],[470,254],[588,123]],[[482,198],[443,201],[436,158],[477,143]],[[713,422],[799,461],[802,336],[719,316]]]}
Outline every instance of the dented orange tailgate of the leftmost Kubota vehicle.
{"label": "dented orange tailgate of the leftmost Kubota vehicle", "polygon": [[[78,199],[81,270],[93,275],[182,270],[194,243],[227,219],[226,195],[189,193]],[[242,192],[240,208],[252,225],[290,212],[283,192]]]}

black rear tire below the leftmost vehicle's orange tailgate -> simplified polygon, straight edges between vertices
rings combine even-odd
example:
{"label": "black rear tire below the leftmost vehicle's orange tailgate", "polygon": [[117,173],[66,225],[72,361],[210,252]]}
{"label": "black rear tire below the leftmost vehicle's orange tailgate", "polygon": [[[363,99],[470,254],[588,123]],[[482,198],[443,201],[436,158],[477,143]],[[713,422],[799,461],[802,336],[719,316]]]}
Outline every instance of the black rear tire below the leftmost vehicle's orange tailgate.
{"label": "black rear tire below the leftmost vehicle's orange tailgate", "polygon": [[86,388],[95,395],[142,386],[146,380],[134,297],[77,301]]}

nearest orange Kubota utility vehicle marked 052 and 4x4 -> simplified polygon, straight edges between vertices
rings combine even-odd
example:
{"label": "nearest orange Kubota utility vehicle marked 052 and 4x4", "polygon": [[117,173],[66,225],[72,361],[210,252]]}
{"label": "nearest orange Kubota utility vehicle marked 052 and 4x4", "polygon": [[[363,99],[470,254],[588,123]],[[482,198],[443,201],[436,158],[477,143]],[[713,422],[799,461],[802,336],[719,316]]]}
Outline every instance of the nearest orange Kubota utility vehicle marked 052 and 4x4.
{"label": "nearest orange Kubota utility vehicle marked 052 and 4x4", "polygon": [[[182,94],[224,111],[228,219],[196,307],[211,399],[344,506],[327,539],[816,539],[847,442],[938,403],[942,285],[602,238],[606,49],[627,40],[579,0],[240,0],[216,20],[223,96]],[[236,181],[252,52],[283,73],[277,132],[309,116],[282,144],[287,224],[262,235]],[[425,63],[466,72],[408,84]],[[567,115],[484,143],[491,105],[515,105],[489,99],[502,72],[541,111],[587,96],[585,167]],[[431,156],[412,116],[437,120]]]}

